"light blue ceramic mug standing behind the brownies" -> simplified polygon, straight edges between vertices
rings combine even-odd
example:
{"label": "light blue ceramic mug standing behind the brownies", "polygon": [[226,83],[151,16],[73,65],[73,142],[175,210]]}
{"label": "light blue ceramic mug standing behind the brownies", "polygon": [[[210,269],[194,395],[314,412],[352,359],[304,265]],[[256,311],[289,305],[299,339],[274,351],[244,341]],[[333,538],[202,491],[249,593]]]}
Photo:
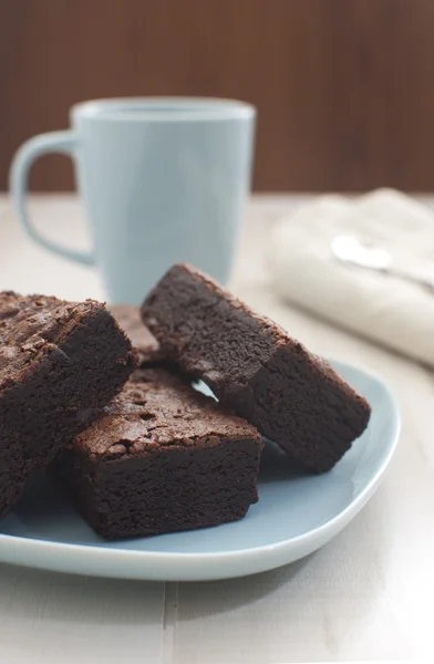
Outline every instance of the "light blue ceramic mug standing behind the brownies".
{"label": "light blue ceramic mug standing behind the brownies", "polygon": [[[250,185],[254,106],[196,97],[100,100],[73,106],[71,124],[31,138],[14,156],[10,186],[28,234],[55,253],[96,264],[110,302],[138,304],[178,261],[225,283]],[[29,169],[48,153],[74,159],[92,252],[52,242],[28,217]]]}

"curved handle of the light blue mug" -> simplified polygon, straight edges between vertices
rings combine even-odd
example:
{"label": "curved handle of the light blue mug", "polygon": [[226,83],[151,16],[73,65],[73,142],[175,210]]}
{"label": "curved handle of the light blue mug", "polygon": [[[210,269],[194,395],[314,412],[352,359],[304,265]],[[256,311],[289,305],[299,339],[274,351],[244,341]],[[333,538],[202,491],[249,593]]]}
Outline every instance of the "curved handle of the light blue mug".
{"label": "curved handle of the light blue mug", "polygon": [[25,231],[33,240],[45,247],[45,249],[50,249],[50,251],[53,251],[54,253],[60,253],[60,256],[63,256],[64,258],[69,258],[81,264],[93,266],[95,259],[91,251],[68,249],[66,247],[62,247],[61,245],[44,238],[39,230],[32,226],[25,207],[29,172],[33,162],[42,155],[50,153],[64,154],[72,157],[75,147],[76,136],[72,131],[50,132],[49,134],[34,136],[23,143],[16,153],[10,168],[10,191],[12,194],[12,200],[18,217]]}

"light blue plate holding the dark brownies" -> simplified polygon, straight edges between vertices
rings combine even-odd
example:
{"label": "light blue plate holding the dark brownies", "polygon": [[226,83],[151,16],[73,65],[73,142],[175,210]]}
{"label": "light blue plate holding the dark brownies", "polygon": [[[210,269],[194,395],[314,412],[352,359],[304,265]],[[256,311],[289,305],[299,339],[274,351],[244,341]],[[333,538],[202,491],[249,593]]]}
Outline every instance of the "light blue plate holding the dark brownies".
{"label": "light blue plate holding the dark brownies", "polygon": [[338,535],[373,495],[400,430],[396,403],[382,380],[350,364],[332,364],[368,398],[372,416],[330,473],[301,475],[267,443],[259,501],[245,519],[121,542],[100,539],[40,476],[0,522],[0,560],[97,577],[202,581],[254,574],[308,556]]}

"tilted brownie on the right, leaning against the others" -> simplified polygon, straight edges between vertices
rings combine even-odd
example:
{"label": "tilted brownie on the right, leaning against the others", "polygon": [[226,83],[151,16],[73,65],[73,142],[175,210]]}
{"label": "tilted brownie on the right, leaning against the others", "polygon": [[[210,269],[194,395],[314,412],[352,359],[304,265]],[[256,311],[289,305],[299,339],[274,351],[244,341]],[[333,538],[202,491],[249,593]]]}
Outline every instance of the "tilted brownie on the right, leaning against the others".
{"label": "tilted brownie on the right, leaning against the others", "polygon": [[368,402],[324,360],[189,266],[166,272],[142,319],[167,360],[310,470],[332,468],[368,425]]}

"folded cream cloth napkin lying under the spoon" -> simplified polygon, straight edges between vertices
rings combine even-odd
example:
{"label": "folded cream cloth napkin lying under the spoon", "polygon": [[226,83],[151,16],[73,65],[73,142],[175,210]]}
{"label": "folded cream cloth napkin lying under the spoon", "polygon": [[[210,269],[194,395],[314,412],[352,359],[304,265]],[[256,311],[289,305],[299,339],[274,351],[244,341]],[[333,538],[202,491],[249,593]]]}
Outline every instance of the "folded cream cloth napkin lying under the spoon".
{"label": "folded cream cloth napkin lying under the spoon", "polygon": [[434,366],[434,292],[422,286],[340,262],[339,235],[369,240],[392,264],[434,279],[434,217],[392,189],[358,198],[321,196],[271,232],[270,272],[288,302]]}

